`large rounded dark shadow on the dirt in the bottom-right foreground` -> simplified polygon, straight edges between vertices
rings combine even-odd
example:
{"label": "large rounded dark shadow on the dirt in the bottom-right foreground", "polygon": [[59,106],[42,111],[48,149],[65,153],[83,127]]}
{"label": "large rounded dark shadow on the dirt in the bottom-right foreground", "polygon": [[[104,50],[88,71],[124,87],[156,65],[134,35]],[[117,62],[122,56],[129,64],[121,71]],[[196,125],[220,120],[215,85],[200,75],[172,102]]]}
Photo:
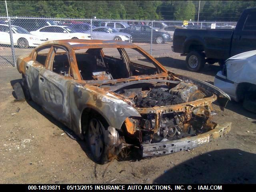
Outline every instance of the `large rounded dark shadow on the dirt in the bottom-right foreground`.
{"label": "large rounded dark shadow on the dirt in the bottom-right foreground", "polygon": [[174,166],[155,184],[255,184],[256,154],[238,149],[215,150]]}

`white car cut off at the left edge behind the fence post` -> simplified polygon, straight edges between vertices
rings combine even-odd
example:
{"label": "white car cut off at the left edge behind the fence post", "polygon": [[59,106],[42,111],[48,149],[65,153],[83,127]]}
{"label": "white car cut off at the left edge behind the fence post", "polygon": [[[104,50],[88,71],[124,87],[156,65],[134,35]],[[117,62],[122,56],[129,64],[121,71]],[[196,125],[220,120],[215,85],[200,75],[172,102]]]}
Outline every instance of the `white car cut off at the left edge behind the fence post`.
{"label": "white car cut off at the left edge behind the fence post", "polygon": [[[30,34],[26,29],[12,26],[12,38],[14,45],[20,48],[36,47],[47,40]],[[10,29],[6,24],[0,24],[0,44],[10,45]]]}

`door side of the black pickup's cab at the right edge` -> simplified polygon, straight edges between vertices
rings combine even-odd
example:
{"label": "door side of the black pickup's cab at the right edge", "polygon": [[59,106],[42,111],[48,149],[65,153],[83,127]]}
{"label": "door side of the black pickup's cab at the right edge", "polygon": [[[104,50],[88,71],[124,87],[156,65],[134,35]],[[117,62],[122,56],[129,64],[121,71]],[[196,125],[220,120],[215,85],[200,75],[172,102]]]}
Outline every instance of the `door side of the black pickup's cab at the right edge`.
{"label": "door side of the black pickup's cab at the right edge", "polygon": [[256,49],[256,12],[250,12],[241,17],[244,17],[245,22],[239,25],[242,18],[238,21],[232,39],[230,56]]}

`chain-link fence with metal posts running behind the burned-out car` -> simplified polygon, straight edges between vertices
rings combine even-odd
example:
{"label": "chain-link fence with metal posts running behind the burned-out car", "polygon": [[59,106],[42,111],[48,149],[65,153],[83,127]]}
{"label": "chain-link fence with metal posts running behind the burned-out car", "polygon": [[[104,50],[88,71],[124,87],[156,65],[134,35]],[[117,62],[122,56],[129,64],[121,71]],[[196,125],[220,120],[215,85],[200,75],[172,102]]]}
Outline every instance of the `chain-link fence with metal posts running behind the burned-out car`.
{"label": "chain-link fence with metal posts running behind the burned-out car", "polygon": [[9,22],[8,17],[0,17],[0,68],[16,66],[18,56],[30,54],[33,48],[48,40],[76,38],[122,40],[140,46],[154,57],[178,58],[180,54],[171,49],[176,28],[233,29],[235,26],[236,22],[21,17],[10,17]]}

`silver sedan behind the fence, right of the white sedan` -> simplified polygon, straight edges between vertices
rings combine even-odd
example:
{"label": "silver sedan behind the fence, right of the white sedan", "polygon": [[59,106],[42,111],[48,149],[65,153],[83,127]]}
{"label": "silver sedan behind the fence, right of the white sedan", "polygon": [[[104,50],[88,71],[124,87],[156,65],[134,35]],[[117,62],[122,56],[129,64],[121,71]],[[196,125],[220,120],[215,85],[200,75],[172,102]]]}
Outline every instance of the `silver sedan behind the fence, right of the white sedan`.
{"label": "silver sedan behind the fence, right of the white sedan", "polygon": [[[86,33],[91,33],[88,30]],[[117,30],[109,27],[97,27],[92,29],[92,38],[98,40],[118,40],[132,42],[132,36],[127,33],[117,32]]]}

